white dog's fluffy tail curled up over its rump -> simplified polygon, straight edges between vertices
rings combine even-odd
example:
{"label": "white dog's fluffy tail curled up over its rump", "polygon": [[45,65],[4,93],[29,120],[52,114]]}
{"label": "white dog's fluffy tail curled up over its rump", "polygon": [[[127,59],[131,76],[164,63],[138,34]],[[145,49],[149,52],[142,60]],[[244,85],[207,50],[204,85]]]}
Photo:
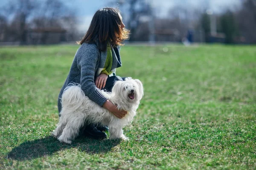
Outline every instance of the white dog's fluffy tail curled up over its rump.
{"label": "white dog's fluffy tail curled up over its rump", "polygon": [[76,111],[84,101],[84,91],[81,89],[81,85],[77,83],[70,83],[62,94],[61,105],[63,108],[69,108]]}

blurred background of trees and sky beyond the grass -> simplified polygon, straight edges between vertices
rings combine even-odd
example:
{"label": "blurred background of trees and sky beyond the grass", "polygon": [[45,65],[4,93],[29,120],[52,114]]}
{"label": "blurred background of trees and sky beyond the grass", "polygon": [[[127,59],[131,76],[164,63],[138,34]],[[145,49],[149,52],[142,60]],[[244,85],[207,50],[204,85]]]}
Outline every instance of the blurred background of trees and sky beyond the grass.
{"label": "blurred background of trees and sky beyond the grass", "polygon": [[74,43],[106,6],[129,42],[256,43],[256,0],[1,0],[0,45]]}

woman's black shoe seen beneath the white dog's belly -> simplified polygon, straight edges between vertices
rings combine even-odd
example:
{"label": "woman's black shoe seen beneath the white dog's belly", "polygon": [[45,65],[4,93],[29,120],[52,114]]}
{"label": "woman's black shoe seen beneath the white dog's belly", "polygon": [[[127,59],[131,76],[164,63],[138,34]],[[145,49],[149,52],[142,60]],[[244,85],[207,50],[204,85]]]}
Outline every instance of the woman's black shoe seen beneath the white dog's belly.
{"label": "woman's black shoe seen beneath the white dog's belly", "polygon": [[91,137],[94,139],[107,138],[107,134],[105,132],[99,131],[94,124],[87,125],[84,128],[84,136]]}

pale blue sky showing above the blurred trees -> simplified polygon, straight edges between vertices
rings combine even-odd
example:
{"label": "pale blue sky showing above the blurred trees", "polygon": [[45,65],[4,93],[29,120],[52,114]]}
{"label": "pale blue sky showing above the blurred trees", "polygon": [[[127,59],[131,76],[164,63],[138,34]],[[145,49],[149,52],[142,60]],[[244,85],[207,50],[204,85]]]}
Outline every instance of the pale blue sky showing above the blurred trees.
{"label": "pale blue sky showing above the blurred trees", "polygon": [[[9,0],[0,0],[0,7]],[[102,7],[110,6],[113,0],[61,0],[67,6],[75,8],[79,20],[79,31],[86,31],[90,25],[93,14]],[[124,0],[125,1],[125,0]],[[177,5],[187,8],[202,8],[208,6],[214,13],[219,13],[226,8],[239,7],[241,0],[145,0],[156,7],[157,16],[166,17],[170,8]],[[122,10],[122,9],[121,9]]]}

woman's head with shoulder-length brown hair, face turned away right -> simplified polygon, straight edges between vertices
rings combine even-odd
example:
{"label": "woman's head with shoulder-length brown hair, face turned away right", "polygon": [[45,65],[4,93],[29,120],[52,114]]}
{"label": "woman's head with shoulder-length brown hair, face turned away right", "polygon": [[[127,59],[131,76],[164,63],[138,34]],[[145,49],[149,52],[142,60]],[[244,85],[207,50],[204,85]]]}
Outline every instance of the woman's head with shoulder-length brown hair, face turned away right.
{"label": "woman's head with shoulder-length brown hair, face turned away right", "polygon": [[117,8],[102,8],[96,11],[88,31],[79,44],[96,42],[100,51],[105,51],[108,43],[114,47],[122,45],[122,41],[129,38],[130,31],[122,28],[119,14]]}

